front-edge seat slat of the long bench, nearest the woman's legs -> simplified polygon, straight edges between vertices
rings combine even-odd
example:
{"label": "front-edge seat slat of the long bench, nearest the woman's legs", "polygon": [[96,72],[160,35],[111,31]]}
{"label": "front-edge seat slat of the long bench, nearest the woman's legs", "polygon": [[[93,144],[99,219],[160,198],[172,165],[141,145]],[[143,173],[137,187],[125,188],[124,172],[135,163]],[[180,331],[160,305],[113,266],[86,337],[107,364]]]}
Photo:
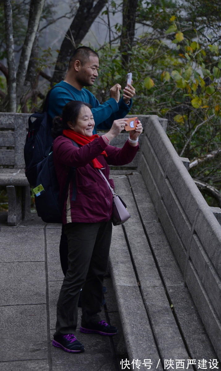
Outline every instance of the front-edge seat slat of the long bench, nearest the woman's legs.
{"label": "front-edge seat slat of the long bench, nearest the woman's legs", "polygon": [[[129,359],[151,358],[156,365],[159,354],[133,270],[122,226],[113,227],[110,272]],[[137,315],[139,312],[139,316]],[[162,371],[161,363],[158,366]]]}

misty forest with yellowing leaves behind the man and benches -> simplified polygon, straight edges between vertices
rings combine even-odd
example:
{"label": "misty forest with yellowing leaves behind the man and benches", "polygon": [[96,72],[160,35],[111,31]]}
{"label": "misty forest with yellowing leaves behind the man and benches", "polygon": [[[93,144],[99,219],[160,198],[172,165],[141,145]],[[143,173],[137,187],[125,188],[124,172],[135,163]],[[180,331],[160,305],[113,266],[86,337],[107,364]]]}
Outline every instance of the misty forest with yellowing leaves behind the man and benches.
{"label": "misty forest with yellowing leaves behind the man and benches", "polygon": [[132,72],[130,113],[168,119],[195,183],[221,207],[220,0],[1,0],[0,34],[0,111],[40,110],[75,48],[90,46],[100,70],[89,90],[102,103]]}

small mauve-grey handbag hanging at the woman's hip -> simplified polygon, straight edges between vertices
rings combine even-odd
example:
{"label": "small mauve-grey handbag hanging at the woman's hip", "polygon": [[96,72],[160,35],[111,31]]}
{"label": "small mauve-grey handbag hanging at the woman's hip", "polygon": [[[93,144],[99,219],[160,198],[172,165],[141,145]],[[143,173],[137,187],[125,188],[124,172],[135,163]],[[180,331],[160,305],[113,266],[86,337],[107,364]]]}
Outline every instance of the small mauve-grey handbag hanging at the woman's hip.
{"label": "small mauve-grey handbag hanging at the woman's hip", "polygon": [[108,187],[110,188],[110,191],[113,195],[113,212],[112,212],[112,223],[114,226],[119,226],[120,224],[123,224],[126,220],[128,220],[131,216],[127,211],[126,204],[123,202],[122,198],[120,196],[117,196],[111,185],[109,184],[109,181],[105,177],[105,175],[102,173],[100,169],[98,169],[102,177],[105,179],[106,183],[108,184]]}

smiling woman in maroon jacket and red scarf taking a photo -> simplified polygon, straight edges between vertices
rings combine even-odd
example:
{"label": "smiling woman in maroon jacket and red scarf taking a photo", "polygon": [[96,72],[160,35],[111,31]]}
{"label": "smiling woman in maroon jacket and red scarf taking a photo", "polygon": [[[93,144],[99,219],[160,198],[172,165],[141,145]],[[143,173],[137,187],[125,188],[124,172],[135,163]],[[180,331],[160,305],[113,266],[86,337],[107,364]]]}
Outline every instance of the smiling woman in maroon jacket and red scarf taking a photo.
{"label": "smiling woman in maroon jacket and red scarf taking a photo", "polygon": [[[69,250],[68,270],[57,302],[56,332],[52,344],[66,352],[84,351],[83,344],[74,335],[80,289],[80,332],[109,336],[117,333],[116,327],[108,325],[99,316],[111,242],[113,196],[98,169],[108,179],[109,164],[116,166],[131,162],[138,151],[138,137],[142,132],[139,121],[136,129],[130,131],[123,148],[116,148],[109,142],[125,128],[127,120],[115,120],[112,128],[101,137],[92,134],[94,125],[90,105],[72,101],[63,108],[62,119],[54,119],[52,129],[56,137],[53,156],[61,199],[68,188],[62,215]],[[71,168],[72,177],[67,187]],[[114,186],[112,180],[109,182]]]}

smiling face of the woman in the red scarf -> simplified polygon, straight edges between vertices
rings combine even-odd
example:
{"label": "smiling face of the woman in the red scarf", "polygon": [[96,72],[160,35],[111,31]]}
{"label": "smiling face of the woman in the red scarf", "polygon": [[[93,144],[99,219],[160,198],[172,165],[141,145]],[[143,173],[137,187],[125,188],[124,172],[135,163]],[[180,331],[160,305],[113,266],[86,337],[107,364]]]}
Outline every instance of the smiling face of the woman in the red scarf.
{"label": "smiling face of the woman in the red scarf", "polygon": [[76,131],[76,133],[85,135],[85,137],[91,137],[93,135],[93,128],[95,126],[95,121],[93,119],[93,114],[90,108],[87,106],[82,106],[76,120],[76,124],[71,129]]}

